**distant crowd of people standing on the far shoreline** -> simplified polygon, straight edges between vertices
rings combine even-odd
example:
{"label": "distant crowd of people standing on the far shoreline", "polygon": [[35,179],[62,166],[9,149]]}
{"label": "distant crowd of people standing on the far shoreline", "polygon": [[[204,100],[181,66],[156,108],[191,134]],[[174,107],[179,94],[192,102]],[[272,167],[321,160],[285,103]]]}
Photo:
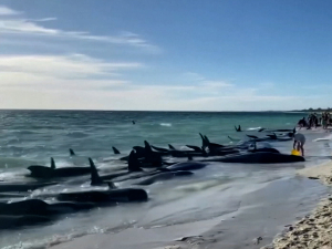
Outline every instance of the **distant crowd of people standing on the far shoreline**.
{"label": "distant crowd of people standing on the far shoreline", "polygon": [[299,121],[298,125],[301,127],[307,127],[308,129],[312,127],[322,126],[324,129],[329,125],[332,125],[332,117],[329,112],[323,112],[320,116],[317,113],[310,113],[308,117],[303,117]]}

